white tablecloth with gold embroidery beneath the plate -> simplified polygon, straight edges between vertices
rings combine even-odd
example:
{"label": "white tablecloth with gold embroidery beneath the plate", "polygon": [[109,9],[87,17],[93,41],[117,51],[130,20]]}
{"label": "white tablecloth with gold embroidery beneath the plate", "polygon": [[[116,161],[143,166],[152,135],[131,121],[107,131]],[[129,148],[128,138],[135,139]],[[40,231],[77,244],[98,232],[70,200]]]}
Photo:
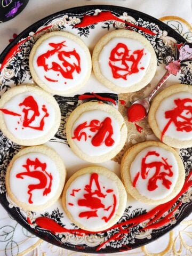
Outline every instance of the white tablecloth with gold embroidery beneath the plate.
{"label": "white tablecloth with gold embroidery beneath the plate", "polygon": [[[178,30],[181,35],[184,35],[187,31],[191,31],[192,34],[190,26],[192,22],[192,3],[190,0],[30,0],[26,9],[17,17],[0,25],[0,52],[2,52],[9,43],[9,39],[13,37],[14,33],[21,33],[23,29],[39,19],[60,10],[89,4],[110,4],[130,7],[131,9],[152,15],[164,22],[171,21],[169,22],[169,25]],[[189,40],[190,39],[192,39],[192,36]],[[1,233],[2,230],[5,230],[5,226],[9,226],[9,228],[6,229],[6,239]],[[173,231],[157,239],[157,241],[132,251],[116,253],[113,255],[192,255],[191,227],[192,214],[182,221]],[[17,243],[17,246],[13,248],[13,251],[9,249],[10,241]],[[29,234],[28,231],[13,220],[0,205],[0,256],[4,255],[87,256],[88,254],[61,249],[60,247],[53,246],[42,241],[38,237]]]}

